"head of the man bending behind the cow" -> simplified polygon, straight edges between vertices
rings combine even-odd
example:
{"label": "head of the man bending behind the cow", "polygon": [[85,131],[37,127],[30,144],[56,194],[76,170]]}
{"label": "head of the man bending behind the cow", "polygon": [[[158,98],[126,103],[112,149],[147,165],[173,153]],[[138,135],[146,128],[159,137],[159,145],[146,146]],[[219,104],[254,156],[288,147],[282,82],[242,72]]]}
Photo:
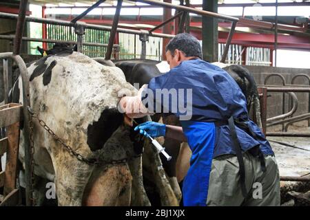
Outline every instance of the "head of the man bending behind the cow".
{"label": "head of the man bending behind the cow", "polygon": [[166,57],[170,69],[178,66],[182,61],[202,58],[202,56],[200,43],[191,34],[177,34],[166,46]]}

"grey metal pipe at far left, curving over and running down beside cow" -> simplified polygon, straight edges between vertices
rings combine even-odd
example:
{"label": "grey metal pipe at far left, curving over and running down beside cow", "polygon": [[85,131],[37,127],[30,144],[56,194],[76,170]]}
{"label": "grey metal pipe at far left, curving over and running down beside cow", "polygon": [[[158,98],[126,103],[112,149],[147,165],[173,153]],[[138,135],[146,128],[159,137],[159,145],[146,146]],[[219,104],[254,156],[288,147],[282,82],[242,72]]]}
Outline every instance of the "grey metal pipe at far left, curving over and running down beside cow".
{"label": "grey metal pipe at far left, curving over and running down beside cow", "polygon": [[19,55],[14,55],[11,52],[0,53],[0,59],[12,58],[19,67],[19,72],[21,74],[21,80],[23,85],[23,133],[24,133],[24,144],[25,144],[25,201],[26,206],[32,206],[32,152],[30,148],[30,114],[28,112],[28,107],[30,107],[30,87],[29,87],[29,76],[27,72],[27,67],[23,62],[23,59]]}

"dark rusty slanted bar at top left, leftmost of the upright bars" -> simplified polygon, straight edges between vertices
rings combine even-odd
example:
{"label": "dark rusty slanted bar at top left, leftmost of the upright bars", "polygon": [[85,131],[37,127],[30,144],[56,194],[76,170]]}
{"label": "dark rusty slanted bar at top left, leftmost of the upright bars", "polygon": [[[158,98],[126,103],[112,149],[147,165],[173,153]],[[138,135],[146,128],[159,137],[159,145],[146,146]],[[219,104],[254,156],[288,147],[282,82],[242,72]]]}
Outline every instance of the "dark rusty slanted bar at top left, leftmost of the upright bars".
{"label": "dark rusty slanted bar at top left, leftmost of the upright bars", "polygon": [[28,5],[28,0],[21,0],[19,4],[19,14],[16,25],[16,38],[14,39],[14,54],[21,53],[21,38],[23,36],[23,28],[25,27],[25,14]]}

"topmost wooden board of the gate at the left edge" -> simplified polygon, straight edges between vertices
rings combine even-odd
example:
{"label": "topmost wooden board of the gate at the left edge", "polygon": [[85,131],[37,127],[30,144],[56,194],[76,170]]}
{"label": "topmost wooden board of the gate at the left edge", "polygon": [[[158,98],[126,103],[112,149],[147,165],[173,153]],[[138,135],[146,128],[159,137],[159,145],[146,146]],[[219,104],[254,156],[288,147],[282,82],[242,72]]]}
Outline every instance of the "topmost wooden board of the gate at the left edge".
{"label": "topmost wooden board of the gate at the left edge", "polygon": [[21,120],[21,104],[5,104],[0,107],[0,127],[9,126]]}

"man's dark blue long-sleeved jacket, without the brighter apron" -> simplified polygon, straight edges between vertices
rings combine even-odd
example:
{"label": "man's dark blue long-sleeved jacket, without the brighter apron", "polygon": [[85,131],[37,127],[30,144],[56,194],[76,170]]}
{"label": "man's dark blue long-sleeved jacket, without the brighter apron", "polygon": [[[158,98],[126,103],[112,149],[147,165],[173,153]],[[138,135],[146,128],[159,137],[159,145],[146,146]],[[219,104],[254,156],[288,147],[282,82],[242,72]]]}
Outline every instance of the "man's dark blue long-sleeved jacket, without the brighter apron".
{"label": "man's dark blue long-sleeved jacket, without the brighter apron", "polygon": [[[179,111],[174,112],[173,104],[169,100],[164,104],[163,95],[156,96],[156,89],[192,89],[192,100],[187,100],[186,92],[183,98],[185,106],[192,104],[191,121],[216,122],[227,120],[231,115],[234,118],[245,120],[249,128],[256,134],[256,140],[246,131],[236,126],[236,132],[242,151],[260,145],[264,155],[274,155],[269,142],[265,139],[260,128],[248,118],[245,96],[234,78],[229,76],[225,70],[211,65],[200,59],[183,61],[166,74],[152,78],[148,88],[154,94],[154,109],[156,104],[161,104],[162,110],[174,113],[176,116],[185,115]],[[180,97],[179,97],[180,99]],[[175,104],[175,103],[174,103]],[[183,131],[187,128],[180,120]],[[235,154],[231,146],[229,126],[216,126],[213,157],[226,154]],[[185,133],[186,135],[186,133]],[[190,139],[190,137],[189,137]]]}

